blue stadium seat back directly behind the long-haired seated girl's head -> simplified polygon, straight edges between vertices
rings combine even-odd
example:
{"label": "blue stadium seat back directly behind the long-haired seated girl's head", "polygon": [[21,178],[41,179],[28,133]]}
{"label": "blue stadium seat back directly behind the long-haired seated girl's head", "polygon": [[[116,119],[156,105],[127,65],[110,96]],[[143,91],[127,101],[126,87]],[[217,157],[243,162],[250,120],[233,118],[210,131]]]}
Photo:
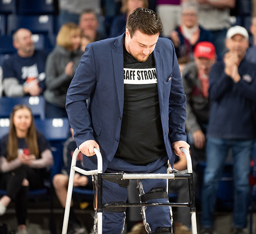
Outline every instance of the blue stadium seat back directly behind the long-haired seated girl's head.
{"label": "blue stadium seat back directly behind the long-haired seated girl's head", "polygon": [[10,113],[13,110],[13,107],[17,104],[26,104],[28,105],[32,113],[35,116],[35,119],[40,118],[44,119],[45,117],[45,100],[43,96],[36,97],[18,97],[18,98],[0,98],[0,118],[9,118]]}

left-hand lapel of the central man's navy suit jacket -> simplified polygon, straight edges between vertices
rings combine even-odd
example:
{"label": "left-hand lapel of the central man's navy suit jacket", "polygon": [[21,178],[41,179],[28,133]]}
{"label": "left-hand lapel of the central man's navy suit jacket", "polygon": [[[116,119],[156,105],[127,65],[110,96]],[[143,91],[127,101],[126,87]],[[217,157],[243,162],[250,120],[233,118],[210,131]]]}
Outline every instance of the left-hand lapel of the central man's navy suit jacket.
{"label": "left-hand lapel of the central man's navy suit jacket", "polygon": [[120,113],[123,115],[124,109],[124,49],[123,49],[123,38],[124,34],[119,36],[114,45],[115,48],[111,50],[114,74],[115,74],[115,83],[117,89],[117,96],[119,102]]}

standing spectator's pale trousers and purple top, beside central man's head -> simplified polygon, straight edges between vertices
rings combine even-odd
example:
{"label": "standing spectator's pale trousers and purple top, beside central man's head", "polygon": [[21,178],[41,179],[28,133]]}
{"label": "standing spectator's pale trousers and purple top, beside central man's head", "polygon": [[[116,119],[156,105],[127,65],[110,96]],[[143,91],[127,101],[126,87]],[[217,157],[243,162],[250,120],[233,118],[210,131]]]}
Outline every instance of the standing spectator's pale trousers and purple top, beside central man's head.
{"label": "standing spectator's pale trousers and purple top, beside central man's head", "polygon": [[156,12],[163,22],[163,36],[168,37],[181,23],[181,3],[187,0],[157,0]]}

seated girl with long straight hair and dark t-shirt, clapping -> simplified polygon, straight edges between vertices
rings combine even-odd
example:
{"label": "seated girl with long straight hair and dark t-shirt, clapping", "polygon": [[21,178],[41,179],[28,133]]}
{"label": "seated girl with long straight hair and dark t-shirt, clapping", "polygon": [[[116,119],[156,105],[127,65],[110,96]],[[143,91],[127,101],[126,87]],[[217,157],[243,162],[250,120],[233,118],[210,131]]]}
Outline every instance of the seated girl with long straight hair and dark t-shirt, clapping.
{"label": "seated girl with long straight hair and dark t-shirt, clapping", "polygon": [[[0,140],[0,215],[11,201],[16,204],[18,234],[26,234],[26,202],[30,189],[44,187],[45,169],[53,165],[49,143],[35,128],[31,109],[16,105],[10,115],[9,134]],[[16,232],[17,233],[17,232]]]}

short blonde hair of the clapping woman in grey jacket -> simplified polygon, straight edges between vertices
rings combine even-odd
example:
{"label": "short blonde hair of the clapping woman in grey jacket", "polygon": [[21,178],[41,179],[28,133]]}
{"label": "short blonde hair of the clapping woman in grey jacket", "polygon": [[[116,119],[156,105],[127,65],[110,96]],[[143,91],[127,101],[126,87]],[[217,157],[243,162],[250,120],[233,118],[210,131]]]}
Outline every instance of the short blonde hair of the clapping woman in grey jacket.
{"label": "short blonde hair of the clapping woman in grey jacket", "polygon": [[63,46],[66,49],[73,48],[71,37],[75,34],[79,33],[80,37],[82,37],[82,32],[78,25],[75,23],[66,23],[63,24],[61,29],[59,30],[56,38],[56,44],[59,46]]}

